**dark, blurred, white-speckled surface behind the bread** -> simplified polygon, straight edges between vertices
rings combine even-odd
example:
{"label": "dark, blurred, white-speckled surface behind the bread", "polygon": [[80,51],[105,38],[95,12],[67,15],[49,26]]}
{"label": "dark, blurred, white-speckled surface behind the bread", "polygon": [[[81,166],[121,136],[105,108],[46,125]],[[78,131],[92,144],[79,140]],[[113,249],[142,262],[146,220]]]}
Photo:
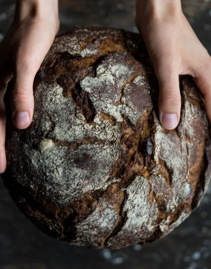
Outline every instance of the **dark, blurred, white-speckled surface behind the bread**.
{"label": "dark, blurred, white-speckled surface behind the bread", "polygon": [[[134,1],[60,0],[60,32],[98,25],[136,32]],[[14,0],[0,0],[0,40],[14,16]],[[211,1],[182,0],[183,11],[211,54]],[[171,234],[146,246],[95,251],[69,246],[22,215],[0,180],[0,269],[211,269],[211,186],[200,208]]]}

